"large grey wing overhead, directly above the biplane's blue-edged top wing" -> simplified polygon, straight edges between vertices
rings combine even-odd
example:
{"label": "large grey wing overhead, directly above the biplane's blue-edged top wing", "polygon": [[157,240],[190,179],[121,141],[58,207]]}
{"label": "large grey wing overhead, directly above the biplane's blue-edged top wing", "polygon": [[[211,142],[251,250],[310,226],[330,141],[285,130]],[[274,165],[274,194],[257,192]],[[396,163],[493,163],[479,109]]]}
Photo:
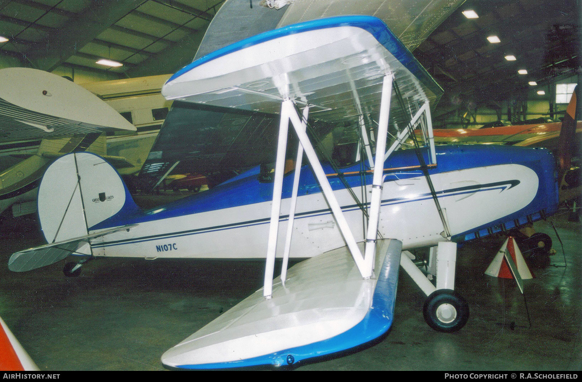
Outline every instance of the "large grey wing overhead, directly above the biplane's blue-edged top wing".
{"label": "large grey wing overhead, directly above the biplane's blue-edged top wing", "polygon": [[[240,0],[225,1],[212,18],[194,59],[242,38],[290,24],[324,17],[374,15],[386,23],[411,51],[423,42],[464,0],[301,0],[280,1],[283,8],[251,6]],[[275,1],[271,1],[275,3]],[[265,3],[261,1],[260,5]],[[286,5],[286,6],[285,6]]]}

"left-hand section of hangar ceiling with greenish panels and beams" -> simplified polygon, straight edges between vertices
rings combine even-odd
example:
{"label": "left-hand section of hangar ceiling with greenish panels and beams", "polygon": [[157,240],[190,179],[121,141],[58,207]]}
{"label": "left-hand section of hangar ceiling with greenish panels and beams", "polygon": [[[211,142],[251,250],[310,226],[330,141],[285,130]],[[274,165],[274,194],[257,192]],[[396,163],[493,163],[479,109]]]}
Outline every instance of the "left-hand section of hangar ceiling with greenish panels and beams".
{"label": "left-hand section of hangar ceiling with greenish panels and beams", "polygon": [[[48,71],[68,66],[123,77],[167,74],[191,61],[222,2],[0,0],[0,34],[10,39],[0,49],[23,66]],[[100,58],[123,66],[101,66],[95,63]],[[158,72],[150,73],[150,66]]]}

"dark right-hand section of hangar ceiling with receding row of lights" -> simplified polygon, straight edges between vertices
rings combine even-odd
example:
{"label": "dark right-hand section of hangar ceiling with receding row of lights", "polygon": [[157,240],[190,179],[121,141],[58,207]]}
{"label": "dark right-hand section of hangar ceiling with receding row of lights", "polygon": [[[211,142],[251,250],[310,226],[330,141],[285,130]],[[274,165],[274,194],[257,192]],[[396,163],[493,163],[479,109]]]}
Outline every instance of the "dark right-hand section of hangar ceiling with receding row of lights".
{"label": "dark right-hand section of hangar ceiling with receding row of lights", "polygon": [[[478,19],[463,16],[466,9]],[[527,92],[529,81],[544,86],[578,72],[579,17],[575,0],[469,0],[414,55],[450,96],[502,101]]]}

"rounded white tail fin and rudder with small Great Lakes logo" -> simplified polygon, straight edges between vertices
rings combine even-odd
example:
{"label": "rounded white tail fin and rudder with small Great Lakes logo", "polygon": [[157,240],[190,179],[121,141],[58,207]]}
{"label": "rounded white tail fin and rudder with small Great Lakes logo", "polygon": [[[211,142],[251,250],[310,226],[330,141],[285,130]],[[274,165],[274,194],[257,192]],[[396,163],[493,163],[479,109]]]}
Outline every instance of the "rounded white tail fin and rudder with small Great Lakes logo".
{"label": "rounded white tail fin and rudder with small Great Lakes logo", "polygon": [[[49,244],[85,237],[109,217],[136,210],[117,171],[93,153],[56,159],[38,187],[38,217]],[[91,255],[90,248],[87,251]]]}

